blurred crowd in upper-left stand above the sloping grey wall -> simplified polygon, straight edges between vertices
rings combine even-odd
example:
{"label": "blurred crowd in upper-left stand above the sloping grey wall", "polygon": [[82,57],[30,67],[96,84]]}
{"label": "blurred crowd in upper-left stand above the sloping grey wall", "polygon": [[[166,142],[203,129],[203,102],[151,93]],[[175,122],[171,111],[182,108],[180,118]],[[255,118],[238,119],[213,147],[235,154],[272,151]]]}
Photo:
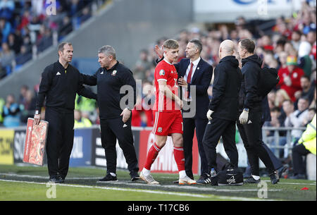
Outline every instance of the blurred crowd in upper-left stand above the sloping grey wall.
{"label": "blurred crowd in upper-left stand above the sloping grey wall", "polygon": [[[52,3],[46,0],[0,1],[0,79],[18,70],[27,61],[92,16],[92,3],[106,0],[56,0],[56,15],[50,16]],[[53,13],[53,12],[52,12]]]}

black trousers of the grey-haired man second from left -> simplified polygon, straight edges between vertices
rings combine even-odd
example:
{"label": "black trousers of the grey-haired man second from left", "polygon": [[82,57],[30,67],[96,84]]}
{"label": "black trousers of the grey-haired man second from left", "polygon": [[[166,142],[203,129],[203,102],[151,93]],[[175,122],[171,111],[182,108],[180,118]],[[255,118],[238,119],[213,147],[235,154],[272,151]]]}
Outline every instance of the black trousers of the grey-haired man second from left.
{"label": "black trousers of the grey-haired man second from left", "polygon": [[129,171],[139,171],[137,164],[137,154],[133,145],[133,135],[131,130],[131,118],[123,123],[122,117],[101,119],[101,145],[105,149],[107,173],[116,173],[117,152],[116,142],[123,150],[125,161]]}

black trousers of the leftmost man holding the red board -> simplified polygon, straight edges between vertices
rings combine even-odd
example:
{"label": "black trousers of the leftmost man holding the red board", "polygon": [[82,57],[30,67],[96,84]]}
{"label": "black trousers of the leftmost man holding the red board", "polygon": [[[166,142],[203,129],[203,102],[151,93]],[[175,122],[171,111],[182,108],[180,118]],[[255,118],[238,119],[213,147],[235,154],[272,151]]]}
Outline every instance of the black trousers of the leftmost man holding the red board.
{"label": "black trousers of the leftmost man holding the red board", "polygon": [[63,113],[61,109],[46,107],[45,120],[49,122],[46,141],[49,177],[61,176],[65,179],[74,142],[74,112]]}

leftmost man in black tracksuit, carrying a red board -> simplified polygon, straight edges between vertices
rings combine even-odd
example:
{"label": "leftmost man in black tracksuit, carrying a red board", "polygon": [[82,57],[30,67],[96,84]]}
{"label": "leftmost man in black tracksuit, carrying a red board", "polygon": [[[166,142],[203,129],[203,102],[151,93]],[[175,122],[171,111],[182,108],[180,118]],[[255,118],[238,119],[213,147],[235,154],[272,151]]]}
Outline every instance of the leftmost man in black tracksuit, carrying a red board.
{"label": "leftmost man in black tracksuit, carrying a red board", "polygon": [[58,61],[47,66],[42,73],[34,118],[35,125],[39,124],[46,98],[45,120],[49,122],[47,167],[50,181],[63,183],[73,149],[76,93],[91,99],[97,99],[97,95],[82,85],[79,71],[69,64],[73,58],[72,44],[61,43],[58,54]]}

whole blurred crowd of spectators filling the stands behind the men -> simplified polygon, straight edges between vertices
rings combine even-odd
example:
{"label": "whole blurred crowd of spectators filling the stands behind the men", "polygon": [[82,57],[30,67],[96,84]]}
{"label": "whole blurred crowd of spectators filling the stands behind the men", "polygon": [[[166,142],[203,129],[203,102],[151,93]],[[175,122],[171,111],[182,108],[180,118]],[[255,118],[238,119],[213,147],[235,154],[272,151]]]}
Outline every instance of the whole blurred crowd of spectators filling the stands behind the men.
{"label": "whole blurred crowd of spectators filling the stands behind the men", "polygon": [[[65,23],[71,23],[70,19],[77,11],[87,4],[84,0],[57,1],[58,10],[64,12],[61,19],[51,20],[43,13],[45,7],[34,4],[35,1],[10,1],[0,3],[0,78],[1,74],[8,74],[8,67],[25,62],[32,58],[30,49],[32,44],[46,47],[45,37],[51,37],[51,30],[58,29],[60,37],[73,29]],[[36,1],[38,2],[38,1]],[[39,10],[39,8],[41,8]],[[31,12],[32,11],[32,12]],[[66,11],[68,11],[66,13]],[[36,14],[31,16],[30,14]],[[82,21],[84,15],[80,16]],[[63,22],[58,23],[59,21]],[[215,68],[220,59],[218,49],[224,39],[232,39],[235,42],[235,56],[237,44],[240,39],[251,38],[256,44],[255,54],[263,59],[263,66],[276,68],[280,76],[280,82],[268,94],[268,102],[271,110],[271,121],[264,126],[277,128],[304,128],[316,114],[316,6],[309,6],[302,2],[302,8],[290,17],[280,17],[273,22],[269,29],[261,29],[260,25],[254,25],[242,16],[233,24],[221,24],[206,26],[204,30],[192,27],[190,30],[182,30],[175,35],[180,44],[180,59],[185,58],[185,49],[190,39],[200,39],[203,44],[201,57]],[[63,29],[61,29],[61,27]],[[63,32],[63,33],[61,33]],[[159,39],[156,44],[161,47],[167,38]],[[24,49],[24,50],[23,50]],[[142,80],[142,97],[137,97],[137,104],[132,110],[132,126],[149,126],[154,123],[151,106],[154,104],[154,68],[156,66],[156,53],[154,44],[139,53],[139,59],[132,69],[135,80]],[[212,98],[212,82],[209,87],[209,97]],[[20,97],[15,99],[13,95],[0,98],[0,126],[24,125],[27,117],[34,116],[35,97],[39,85],[34,89],[22,86]],[[75,101],[77,109],[76,121],[78,126],[99,124],[99,111],[96,102],[84,97],[77,97]],[[44,113],[44,111],[42,111]],[[82,120],[82,118],[89,119]],[[86,123],[81,123],[86,121]],[[304,130],[292,130],[292,143],[297,142]],[[286,132],[280,131],[280,142],[274,145],[287,144]],[[273,137],[273,131],[267,131],[268,137]],[[280,159],[285,159],[287,153],[280,150]]]}

